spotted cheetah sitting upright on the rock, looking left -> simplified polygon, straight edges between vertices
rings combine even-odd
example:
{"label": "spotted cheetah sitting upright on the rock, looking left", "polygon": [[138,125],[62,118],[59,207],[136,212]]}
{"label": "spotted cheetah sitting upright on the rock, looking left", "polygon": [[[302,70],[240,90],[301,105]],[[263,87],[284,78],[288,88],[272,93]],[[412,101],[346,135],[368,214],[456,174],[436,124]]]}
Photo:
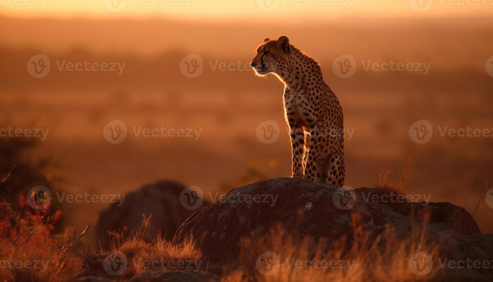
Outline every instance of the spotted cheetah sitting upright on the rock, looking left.
{"label": "spotted cheetah sitting upright on the rock, looking left", "polygon": [[255,74],[273,74],[284,84],[284,117],[292,145],[292,175],[318,183],[344,185],[343,113],[323,81],[317,61],[286,36],[266,38],[251,61]]}

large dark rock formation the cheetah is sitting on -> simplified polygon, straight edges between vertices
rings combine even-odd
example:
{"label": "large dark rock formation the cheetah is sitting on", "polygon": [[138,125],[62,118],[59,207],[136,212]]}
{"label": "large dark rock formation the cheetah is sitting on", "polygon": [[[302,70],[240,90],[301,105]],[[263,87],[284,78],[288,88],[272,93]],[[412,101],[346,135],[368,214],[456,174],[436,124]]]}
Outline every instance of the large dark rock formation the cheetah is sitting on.
{"label": "large dark rock formation the cheetah is sitting on", "polygon": [[[412,232],[418,229],[424,234],[424,242],[439,243],[440,254],[448,259],[493,259],[493,254],[485,251],[491,249],[492,238],[479,235],[477,224],[465,209],[451,203],[368,201],[367,192],[382,195],[382,191],[360,188],[350,193],[299,178],[260,181],[233,189],[224,201],[195,212],[176,231],[174,242],[183,242],[192,235],[206,259],[227,263],[238,259],[242,237],[254,239],[266,235],[279,224],[294,240],[308,236],[333,242],[345,237],[348,244],[356,226],[374,238],[395,236],[397,240],[411,238]],[[245,195],[270,195],[261,196],[262,200],[270,201],[234,201],[239,195],[243,199]],[[460,221],[472,220],[474,228],[463,230],[453,217],[456,212],[461,214]],[[426,214],[429,222],[423,224]],[[388,234],[388,227],[392,227],[393,234]],[[493,278],[489,271],[489,277]]]}

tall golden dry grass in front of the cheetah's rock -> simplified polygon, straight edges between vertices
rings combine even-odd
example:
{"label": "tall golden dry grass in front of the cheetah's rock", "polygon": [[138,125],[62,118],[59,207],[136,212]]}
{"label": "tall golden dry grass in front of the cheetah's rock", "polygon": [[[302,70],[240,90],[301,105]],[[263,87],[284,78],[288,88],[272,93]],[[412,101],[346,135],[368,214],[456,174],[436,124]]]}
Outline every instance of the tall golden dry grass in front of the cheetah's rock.
{"label": "tall golden dry grass in front of the cheetah's rock", "polygon": [[[305,238],[301,244],[296,243],[282,228],[256,241],[245,240],[241,253],[242,266],[225,274],[222,281],[240,282],[245,278],[258,282],[433,281],[437,277],[436,269],[422,278],[409,268],[409,260],[417,252],[426,251],[437,257],[437,245],[425,243],[425,228],[415,227],[412,235],[405,240],[397,239],[391,228],[386,228],[382,233],[385,236],[377,238],[360,228],[356,227],[355,230],[349,248],[346,248],[345,239],[337,242],[319,240],[313,245],[310,238]],[[257,270],[255,262],[260,254],[270,251],[279,255],[280,268],[274,275],[266,276]],[[293,258],[301,261],[313,261],[314,258],[318,261],[337,261],[337,265],[345,268],[290,267]],[[340,264],[340,261],[345,262]]]}

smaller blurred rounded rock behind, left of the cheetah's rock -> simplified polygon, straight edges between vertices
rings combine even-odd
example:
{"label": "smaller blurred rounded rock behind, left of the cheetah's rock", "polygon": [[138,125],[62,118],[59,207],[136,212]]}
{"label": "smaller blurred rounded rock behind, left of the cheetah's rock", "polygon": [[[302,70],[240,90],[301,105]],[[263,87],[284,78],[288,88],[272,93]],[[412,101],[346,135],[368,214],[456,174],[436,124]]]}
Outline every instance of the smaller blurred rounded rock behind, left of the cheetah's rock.
{"label": "smaller blurred rounded rock behind, left of the cheetah's rock", "polygon": [[[118,202],[112,203],[100,214],[97,225],[97,237],[102,247],[108,249],[108,230],[118,230],[124,226],[129,228],[128,234],[139,230],[142,214],[152,214],[149,233],[145,237],[147,242],[154,240],[159,232],[161,236],[171,240],[176,229],[194,211],[180,203],[179,196],[185,188],[173,181],[159,181],[126,195],[121,206],[118,206]],[[204,201],[201,207],[207,204]]]}

